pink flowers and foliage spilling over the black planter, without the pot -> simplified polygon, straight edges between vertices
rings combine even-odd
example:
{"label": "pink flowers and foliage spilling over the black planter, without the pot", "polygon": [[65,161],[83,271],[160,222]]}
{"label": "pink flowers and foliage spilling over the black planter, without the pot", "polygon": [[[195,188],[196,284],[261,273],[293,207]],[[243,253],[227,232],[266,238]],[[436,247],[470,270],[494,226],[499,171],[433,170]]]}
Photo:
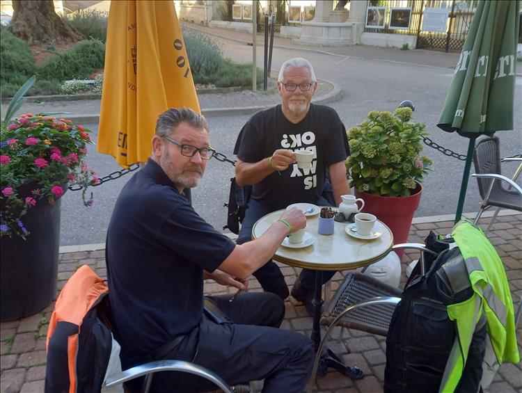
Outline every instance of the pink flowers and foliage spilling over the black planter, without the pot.
{"label": "pink flowers and foliage spilling over the black planter, without the pot", "polygon": [[[65,193],[67,184],[87,186],[100,180],[87,168],[86,145],[89,129],[71,120],[27,113],[3,123],[0,130],[0,236],[17,234],[26,238],[24,216],[35,205],[54,203]],[[34,184],[29,195],[20,195],[20,186]]]}

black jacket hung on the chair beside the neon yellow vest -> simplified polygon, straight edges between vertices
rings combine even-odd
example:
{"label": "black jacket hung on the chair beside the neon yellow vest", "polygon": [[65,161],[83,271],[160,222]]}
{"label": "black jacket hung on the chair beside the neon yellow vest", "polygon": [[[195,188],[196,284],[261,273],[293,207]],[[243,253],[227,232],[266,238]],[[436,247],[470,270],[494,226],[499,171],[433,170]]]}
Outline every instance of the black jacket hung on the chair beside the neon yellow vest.
{"label": "black jacket hung on the chair beside the neon yellow vest", "polygon": [[[452,239],[441,240],[430,233],[426,243],[432,250],[443,251],[436,259],[427,259],[424,276],[412,272],[395,308],[386,337],[385,393],[438,392],[457,337],[457,323],[449,319],[446,306],[474,294],[465,265],[456,263],[462,256],[458,247],[450,248]],[[450,273],[450,265],[459,268]],[[450,284],[455,275],[464,283],[458,291]],[[479,392],[486,335],[483,317],[477,323],[456,392]]]}

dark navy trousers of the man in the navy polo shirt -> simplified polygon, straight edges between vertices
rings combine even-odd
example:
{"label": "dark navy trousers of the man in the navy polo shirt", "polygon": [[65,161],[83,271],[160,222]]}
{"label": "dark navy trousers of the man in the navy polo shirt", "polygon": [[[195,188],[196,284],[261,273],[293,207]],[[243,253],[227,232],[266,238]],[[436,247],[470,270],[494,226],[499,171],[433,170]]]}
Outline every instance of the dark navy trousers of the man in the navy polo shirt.
{"label": "dark navy trousers of the man in the navy polo shirt", "polygon": [[[283,300],[274,294],[247,292],[208,298],[226,315],[222,323],[203,316],[199,326],[164,359],[186,360],[206,367],[229,385],[264,379],[263,392],[303,392],[314,360],[313,342],[278,329],[285,316]],[[161,372],[151,392],[202,392],[216,389],[192,374]]]}

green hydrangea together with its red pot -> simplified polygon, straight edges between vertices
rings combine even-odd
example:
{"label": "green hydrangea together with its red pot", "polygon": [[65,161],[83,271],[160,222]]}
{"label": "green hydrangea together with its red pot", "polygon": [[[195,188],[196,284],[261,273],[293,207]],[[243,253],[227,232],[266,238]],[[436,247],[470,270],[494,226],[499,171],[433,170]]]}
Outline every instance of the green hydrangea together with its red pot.
{"label": "green hydrangea together with its red pot", "polygon": [[395,243],[407,241],[419,203],[422,178],[432,160],[421,156],[425,125],[410,122],[412,110],[372,111],[348,130],[349,183],[363,211],[375,214],[393,232]]}

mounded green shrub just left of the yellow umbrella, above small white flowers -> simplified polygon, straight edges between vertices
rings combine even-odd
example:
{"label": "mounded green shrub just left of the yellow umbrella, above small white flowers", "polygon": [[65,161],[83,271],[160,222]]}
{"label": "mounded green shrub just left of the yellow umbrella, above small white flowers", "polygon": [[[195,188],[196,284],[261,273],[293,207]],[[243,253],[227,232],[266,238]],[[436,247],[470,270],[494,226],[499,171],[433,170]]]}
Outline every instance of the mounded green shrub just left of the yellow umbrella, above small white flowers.
{"label": "mounded green shrub just left of the yellow umbrella, above small white flowers", "polygon": [[94,70],[102,68],[105,45],[100,40],[77,42],[68,51],[48,58],[39,72],[41,79],[87,79]]}

